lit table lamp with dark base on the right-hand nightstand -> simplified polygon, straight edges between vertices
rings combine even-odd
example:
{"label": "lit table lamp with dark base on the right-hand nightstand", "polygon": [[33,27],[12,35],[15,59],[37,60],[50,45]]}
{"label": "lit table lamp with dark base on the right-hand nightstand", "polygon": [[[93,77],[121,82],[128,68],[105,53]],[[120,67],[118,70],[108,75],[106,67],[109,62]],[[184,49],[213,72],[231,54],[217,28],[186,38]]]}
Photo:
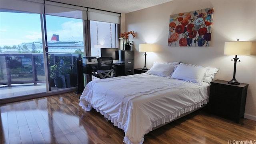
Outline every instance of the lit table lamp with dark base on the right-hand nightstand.
{"label": "lit table lamp with dark base on the right-hand nightstand", "polygon": [[251,54],[252,42],[240,41],[237,39],[237,42],[225,42],[224,54],[225,55],[235,55],[234,59],[234,73],[233,78],[228,82],[228,84],[240,84],[236,80],[236,62],[239,58],[237,55],[250,55]]}

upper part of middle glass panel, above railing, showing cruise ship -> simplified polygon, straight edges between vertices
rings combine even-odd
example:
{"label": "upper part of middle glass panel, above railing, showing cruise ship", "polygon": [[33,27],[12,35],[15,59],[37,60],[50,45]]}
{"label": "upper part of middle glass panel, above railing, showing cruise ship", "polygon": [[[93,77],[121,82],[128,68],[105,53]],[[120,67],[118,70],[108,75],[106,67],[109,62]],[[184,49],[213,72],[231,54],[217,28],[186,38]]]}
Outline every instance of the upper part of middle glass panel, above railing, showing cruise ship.
{"label": "upper part of middle glass panel, above railing, showing cruise ship", "polygon": [[48,52],[84,53],[83,20],[46,15]]}

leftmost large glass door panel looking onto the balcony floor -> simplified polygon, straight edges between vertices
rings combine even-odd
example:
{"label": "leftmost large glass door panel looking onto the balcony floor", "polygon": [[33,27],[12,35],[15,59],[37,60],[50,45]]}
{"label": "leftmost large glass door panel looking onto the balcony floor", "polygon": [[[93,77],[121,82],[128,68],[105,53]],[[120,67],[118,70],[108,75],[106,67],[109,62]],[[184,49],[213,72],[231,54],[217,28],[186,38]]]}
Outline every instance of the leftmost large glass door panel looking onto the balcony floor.
{"label": "leftmost large glass door panel looking onto the balcony floor", "polygon": [[1,99],[46,92],[40,14],[1,9],[0,17]]}

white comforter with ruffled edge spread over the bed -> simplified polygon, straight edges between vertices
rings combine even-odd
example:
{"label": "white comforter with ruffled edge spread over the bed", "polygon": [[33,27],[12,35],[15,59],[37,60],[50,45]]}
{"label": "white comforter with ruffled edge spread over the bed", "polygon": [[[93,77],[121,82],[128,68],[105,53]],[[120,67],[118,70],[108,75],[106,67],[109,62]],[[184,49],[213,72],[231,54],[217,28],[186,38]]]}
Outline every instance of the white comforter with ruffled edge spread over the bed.
{"label": "white comforter with ruffled edge spread over the bed", "polygon": [[149,74],[89,82],[80,106],[92,107],[125,132],[126,144],[142,144],[152,128],[208,102],[209,84],[202,86]]}

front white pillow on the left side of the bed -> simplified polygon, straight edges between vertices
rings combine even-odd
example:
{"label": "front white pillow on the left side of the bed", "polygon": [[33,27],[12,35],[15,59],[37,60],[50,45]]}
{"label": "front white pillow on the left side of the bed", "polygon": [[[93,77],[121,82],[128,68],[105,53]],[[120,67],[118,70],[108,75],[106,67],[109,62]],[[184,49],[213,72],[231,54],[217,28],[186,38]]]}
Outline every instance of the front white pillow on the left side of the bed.
{"label": "front white pillow on the left side of the bed", "polygon": [[146,72],[147,74],[154,74],[158,76],[170,76],[174,70],[174,65],[154,62],[152,68]]}

